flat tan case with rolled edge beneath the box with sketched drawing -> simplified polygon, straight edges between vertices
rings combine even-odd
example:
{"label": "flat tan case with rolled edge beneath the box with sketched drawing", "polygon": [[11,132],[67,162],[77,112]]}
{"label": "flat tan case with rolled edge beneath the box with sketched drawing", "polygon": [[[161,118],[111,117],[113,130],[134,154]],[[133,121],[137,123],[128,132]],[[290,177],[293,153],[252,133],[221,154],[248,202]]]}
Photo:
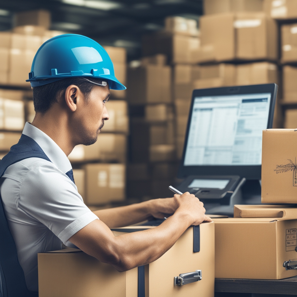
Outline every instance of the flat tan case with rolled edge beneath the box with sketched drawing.
{"label": "flat tan case with rolled edge beneath the box with sketched drawing", "polygon": [[297,219],[297,208],[286,205],[234,205],[234,217]]}

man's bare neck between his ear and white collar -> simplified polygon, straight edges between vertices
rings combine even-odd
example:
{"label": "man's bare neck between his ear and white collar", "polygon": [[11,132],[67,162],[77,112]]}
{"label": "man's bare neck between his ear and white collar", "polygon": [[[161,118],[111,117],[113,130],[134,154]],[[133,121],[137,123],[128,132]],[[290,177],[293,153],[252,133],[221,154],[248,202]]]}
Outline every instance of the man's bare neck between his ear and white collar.
{"label": "man's bare neck between his ear and white collar", "polygon": [[[55,116],[53,116],[55,114]],[[68,156],[74,148],[67,116],[55,112],[36,113],[31,125],[48,135]]]}

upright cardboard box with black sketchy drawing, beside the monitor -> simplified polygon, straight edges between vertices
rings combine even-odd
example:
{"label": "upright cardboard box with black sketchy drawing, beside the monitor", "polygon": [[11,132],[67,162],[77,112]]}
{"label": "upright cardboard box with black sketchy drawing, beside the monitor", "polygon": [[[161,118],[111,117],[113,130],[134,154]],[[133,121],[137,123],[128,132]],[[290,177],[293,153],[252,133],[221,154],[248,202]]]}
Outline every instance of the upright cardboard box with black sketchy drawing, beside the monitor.
{"label": "upright cardboard box with black sketchy drawing, beside the monitor", "polygon": [[297,203],[297,131],[266,129],[262,138],[262,203]]}

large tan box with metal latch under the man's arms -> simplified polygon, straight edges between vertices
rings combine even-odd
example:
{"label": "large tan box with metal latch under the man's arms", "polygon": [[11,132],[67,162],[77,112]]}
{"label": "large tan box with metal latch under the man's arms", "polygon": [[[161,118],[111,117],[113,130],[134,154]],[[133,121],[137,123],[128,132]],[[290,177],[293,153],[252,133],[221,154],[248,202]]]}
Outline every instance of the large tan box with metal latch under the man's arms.
{"label": "large tan box with metal latch under the man's arms", "polygon": [[[137,226],[113,229],[120,236],[133,229],[145,230],[155,227]],[[197,228],[197,227],[195,227]],[[164,255],[144,267],[145,285],[143,296],[147,297],[203,297],[214,296],[214,223],[199,225],[200,251],[193,252],[194,229],[189,227]],[[131,230],[132,229],[132,230]],[[198,229],[195,229],[195,231]],[[197,235],[197,234],[196,234]],[[99,262],[78,249],[38,254],[38,283],[40,297],[137,297],[138,269],[118,272],[113,266]],[[201,270],[198,282],[174,285],[179,274]],[[140,289],[141,290],[141,289]]]}

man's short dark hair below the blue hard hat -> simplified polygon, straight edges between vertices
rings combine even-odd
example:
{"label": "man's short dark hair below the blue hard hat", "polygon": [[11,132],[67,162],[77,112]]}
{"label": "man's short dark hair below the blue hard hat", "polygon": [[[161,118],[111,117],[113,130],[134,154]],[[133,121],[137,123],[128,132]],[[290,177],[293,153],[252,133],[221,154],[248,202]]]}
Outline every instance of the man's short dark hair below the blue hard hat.
{"label": "man's short dark hair below the blue hard hat", "polygon": [[[101,83],[102,80],[98,78],[88,78],[96,83]],[[45,113],[50,109],[53,103],[58,102],[61,95],[65,94],[66,89],[71,86],[76,85],[79,87],[80,91],[86,97],[94,88],[94,84],[87,82],[79,77],[74,78],[64,78],[61,80],[54,81],[53,83],[48,83],[47,85],[38,86],[33,88],[33,104],[35,112]]]}

